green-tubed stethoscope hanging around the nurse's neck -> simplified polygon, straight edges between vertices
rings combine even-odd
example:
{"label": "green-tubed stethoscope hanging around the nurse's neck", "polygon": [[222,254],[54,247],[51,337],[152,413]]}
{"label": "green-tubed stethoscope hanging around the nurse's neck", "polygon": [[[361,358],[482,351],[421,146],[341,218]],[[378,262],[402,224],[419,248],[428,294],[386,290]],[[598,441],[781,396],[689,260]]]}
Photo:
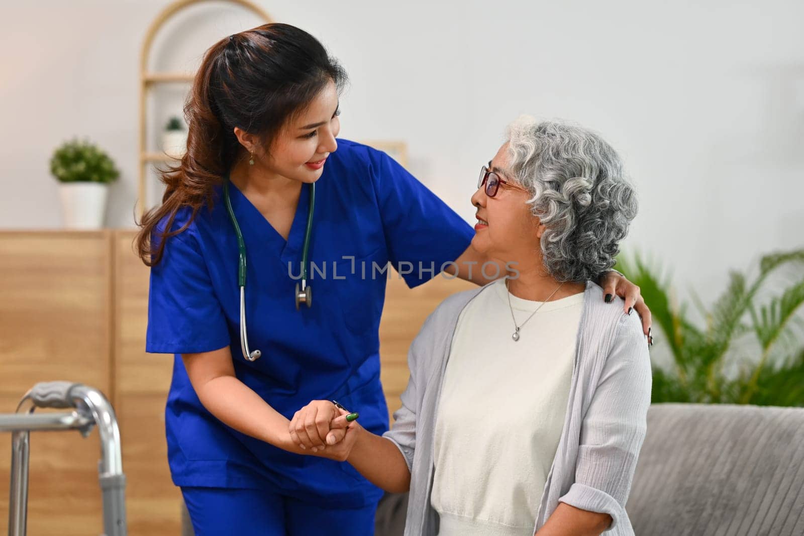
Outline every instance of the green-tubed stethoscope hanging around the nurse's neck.
{"label": "green-tubed stethoscope hanging around the nurse's neck", "polygon": [[[237,249],[239,250],[240,262],[237,269],[237,284],[240,285],[240,350],[243,350],[243,357],[248,361],[255,361],[260,358],[262,352],[248,350],[248,334],[246,333],[246,244],[243,240],[243,233],[240,232],[240,225],[237,224],[235,211],[232,210],[232,201],[229,199],[229,178],[224,180],[224,199],[226,209],[229,212],[229,219],[237,234]],[[313,211],[315,208],[315,182],[310,183],[310,208],[307,211],[307,228],[304,232],[304,247],[301,250],[301,289],[296,284],[296,310],[299,304],[306,304],[309,308],[313,305],[313,289],[307,284],[307,252],[310,249],[310,231],[313,228]]]}

